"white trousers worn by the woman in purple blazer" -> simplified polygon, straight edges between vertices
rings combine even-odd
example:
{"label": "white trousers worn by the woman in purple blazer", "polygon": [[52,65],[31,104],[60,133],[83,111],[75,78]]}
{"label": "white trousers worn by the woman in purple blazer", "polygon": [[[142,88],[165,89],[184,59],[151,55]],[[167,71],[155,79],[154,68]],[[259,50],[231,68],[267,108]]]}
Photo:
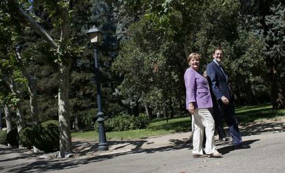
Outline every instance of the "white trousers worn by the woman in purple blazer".
{"label": "white trousers worn by the woman in purple blazer", "polygon": [[193,154],[203,154],[204,131],[206,132],[205,153],[215,152],[215,121],[208,109],[196,109],[192,114]]}

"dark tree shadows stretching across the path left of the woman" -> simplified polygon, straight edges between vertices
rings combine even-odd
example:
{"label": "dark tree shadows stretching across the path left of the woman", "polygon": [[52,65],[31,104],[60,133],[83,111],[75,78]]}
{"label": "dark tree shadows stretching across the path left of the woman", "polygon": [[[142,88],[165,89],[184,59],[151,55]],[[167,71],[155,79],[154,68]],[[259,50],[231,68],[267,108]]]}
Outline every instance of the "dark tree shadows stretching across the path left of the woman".
{"label": "dark tree shadows stretching across the path left of the woman", "polygon": [[[124,143],[125,141],[109,141],[109,145],[112,144],[120,144]],[[6,172],[48,172],[48,171],[54,171],[54,170],[65,170],[70,169],[72,167],[80,167],[82,165],[87,165],[88,163],[94,163],[98,161],[105,161],[106,159],[113,159],[118,156],[123,156],[126,154],[138,154],[138,153],[146,153],[151,154],[155,152],[165,152],[170,150],[180,150],[183,148],[189,148],[189,150],[192,148],[191,144],[188,141],[181,141],[173,139],[171,140],[172,143],[175,143],[176,145],[169,145],[165,147],[157,147],[157,148],[149,148],[149,149],[142,149],[140,146],[142,146],[143,143],[147,141],[127,141],[128,145],[136,145],[134,149],[131,149],[127,152],[120,152],[120,153],[112,153],[104,155],[97,155],[97,156],[89,156],[89,157],[81,157],[81,158],[75,158],[75,159],[39,159],[36,157],[31,156],[17,156],[14,159],[10,159],[10,161],[13,161],[16,159],[34,159],[32,163],[25,163],[28,161],[24,161],[17,164],[10,164],[9,166],[0,166],[0,170],[5,170]],[[77,143],[78,144],[78,143]],[[76,146],[76,143],[75,143]],[[88,152],[89,150],[97,150],[98,144],[92,146],[88,150],[85,150],[85,152]],[[8,150],[3,151],[0,149],[0,152],[8,152]],[[21,150],[18,150],[17,152],[21,152]]]}

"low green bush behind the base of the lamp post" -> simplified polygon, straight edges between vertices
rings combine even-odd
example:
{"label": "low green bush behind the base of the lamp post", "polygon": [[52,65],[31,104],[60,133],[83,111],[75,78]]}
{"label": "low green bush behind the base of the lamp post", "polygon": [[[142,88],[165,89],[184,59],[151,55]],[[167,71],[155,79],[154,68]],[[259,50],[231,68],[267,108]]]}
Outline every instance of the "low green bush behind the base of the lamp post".
{"label": "low green bush behind the base of the lamp post", "polygon": [[[95,123],[94,128],[98,132],[98,123]],[[126,130],[144,129],[147,127],[147,116],[140,114],[140,116],[130,116],[128,114],[120,114],[112,119],[105,121],[106,132],[119,132]]]}

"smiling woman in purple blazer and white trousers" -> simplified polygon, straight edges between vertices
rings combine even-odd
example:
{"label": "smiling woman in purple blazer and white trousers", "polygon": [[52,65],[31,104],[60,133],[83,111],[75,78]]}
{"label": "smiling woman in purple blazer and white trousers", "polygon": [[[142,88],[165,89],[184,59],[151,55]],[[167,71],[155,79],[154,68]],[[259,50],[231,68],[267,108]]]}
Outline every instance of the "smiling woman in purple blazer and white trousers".
{"label": "smiling woman in purple blazer and white trousers", "polygon": [[[193,131],[193,158],[201,158],[206,156],[220,157],[215,149],[215,121],[209,112],[209,108],[213,107],[209,85],[206,78],[198,72],[200,66],[200,55],[196,53],[189,54],[187,62],[190,66],[184,73],[184,81],[186,87],[186,106],[187,110],[192,114],[192,131]],[[202,143],[206,131],[206,146],[203,154]]]}

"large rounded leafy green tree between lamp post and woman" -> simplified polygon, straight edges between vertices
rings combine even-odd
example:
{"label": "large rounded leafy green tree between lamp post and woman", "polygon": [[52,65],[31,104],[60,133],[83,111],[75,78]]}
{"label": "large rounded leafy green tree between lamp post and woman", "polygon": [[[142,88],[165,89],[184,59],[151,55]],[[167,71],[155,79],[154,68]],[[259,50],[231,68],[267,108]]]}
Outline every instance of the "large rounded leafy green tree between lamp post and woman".
{"label": "large rounded leafy green tree between lamp post and woman", "polygon": [[156,21],[159,21],[158,15],[151,14],[131,24],[128,39],[112,64],[114,72],[124,77],[117,87],[118,95],[133,110],[148,105],[157,111],[165,111],[165,108],[168,112],[173,108],[172,103],[182,99],[178,94],[182,93],[184,71],[182,48]]}

